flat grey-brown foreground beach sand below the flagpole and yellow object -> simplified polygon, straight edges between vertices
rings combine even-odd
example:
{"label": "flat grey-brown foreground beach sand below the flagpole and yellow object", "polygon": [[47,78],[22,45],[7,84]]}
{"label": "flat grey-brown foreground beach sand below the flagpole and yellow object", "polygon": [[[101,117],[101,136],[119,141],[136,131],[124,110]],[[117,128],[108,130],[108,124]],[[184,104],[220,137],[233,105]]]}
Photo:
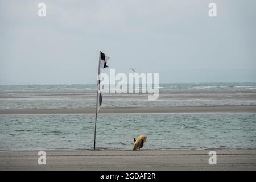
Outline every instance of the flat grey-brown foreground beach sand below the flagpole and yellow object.
{"label": "flat grey-brown foreground beach sand below the flagpole and yellow object", "polygon": [[46,151],[39,165],[38,151],[0,152],[0,170],[256,170],[256,150]]}

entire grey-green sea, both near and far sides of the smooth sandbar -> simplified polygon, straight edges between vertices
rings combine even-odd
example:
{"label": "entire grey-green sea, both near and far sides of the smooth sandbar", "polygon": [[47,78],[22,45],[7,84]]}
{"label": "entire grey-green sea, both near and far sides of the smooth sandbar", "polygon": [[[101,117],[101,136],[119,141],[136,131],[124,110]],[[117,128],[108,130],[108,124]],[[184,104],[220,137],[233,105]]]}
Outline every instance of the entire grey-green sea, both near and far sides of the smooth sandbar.
{"label": "entire grey-green sea, both near and far sides of the smooth sandbar", "polygon": [[[101,107],[256,105],[256,83],[159,84],[159,100],[115,96]],[[0,85],[0,109],[94,108],[96,85]],[[92,150],[95,114],[0,115],[0,150]],[[97,150],[256,148],[255,113],[98,114]]]}

